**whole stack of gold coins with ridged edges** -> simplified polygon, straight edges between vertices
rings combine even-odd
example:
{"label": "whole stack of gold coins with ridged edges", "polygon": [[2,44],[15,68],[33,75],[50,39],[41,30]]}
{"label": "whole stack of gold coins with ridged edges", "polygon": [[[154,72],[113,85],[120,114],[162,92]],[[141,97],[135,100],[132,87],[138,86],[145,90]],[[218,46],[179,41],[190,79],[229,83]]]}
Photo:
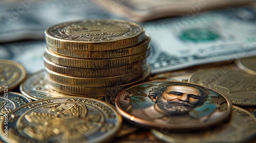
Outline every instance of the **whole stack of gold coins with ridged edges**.
{"label": "whole stack of gold coins with ridged edges", "polygon": [[150,36],[138,23],[117,19],[64,22],[46,32],[49,84],[73,96],[117,95],[148,80]]}

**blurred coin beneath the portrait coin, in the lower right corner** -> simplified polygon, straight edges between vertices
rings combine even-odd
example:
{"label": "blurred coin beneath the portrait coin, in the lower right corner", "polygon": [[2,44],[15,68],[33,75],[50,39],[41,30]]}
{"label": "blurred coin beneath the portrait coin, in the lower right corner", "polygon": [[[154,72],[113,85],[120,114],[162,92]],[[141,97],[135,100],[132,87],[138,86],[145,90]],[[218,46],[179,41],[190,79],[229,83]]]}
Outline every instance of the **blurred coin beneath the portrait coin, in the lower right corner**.
{"label": "blurred coin beneath the portrait coin, in the lower right corner", "polygon": [[211,130],[175,133],[153,129],[152,133],[166,142],[247,142],[256,135],[256,118],[233,106],[230,121]]}

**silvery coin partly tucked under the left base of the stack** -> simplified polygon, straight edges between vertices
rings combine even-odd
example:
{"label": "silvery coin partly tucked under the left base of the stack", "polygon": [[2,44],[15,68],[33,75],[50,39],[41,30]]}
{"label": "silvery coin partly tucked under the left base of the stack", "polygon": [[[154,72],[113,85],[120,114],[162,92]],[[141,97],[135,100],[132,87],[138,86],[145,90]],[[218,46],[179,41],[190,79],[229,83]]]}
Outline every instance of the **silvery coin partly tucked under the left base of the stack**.
{"label": "silvery coin partly tucked under the left base of the stack", "polygon": [[67,94],[62,94],[51,89],[47,79],[48,74],[46,69],[39,70],[30,75],[24,82],[20,84],[20,92],[32,100],[68,96]]}

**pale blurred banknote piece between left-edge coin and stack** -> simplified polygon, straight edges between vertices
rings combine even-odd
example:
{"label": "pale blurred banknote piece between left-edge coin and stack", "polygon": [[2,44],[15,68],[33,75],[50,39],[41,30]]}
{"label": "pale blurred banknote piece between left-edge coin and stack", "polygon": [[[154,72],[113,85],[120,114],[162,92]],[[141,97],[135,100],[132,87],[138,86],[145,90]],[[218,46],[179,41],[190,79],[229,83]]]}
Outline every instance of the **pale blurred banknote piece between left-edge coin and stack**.
{"label": "pale blurred banknote piece between left-edge coin and stack", "polygon": [[44,40],[0,44],[0,59],[19,62],[25,67],[28,74],[32,74],[45,68],[42,59],[45,48]]}

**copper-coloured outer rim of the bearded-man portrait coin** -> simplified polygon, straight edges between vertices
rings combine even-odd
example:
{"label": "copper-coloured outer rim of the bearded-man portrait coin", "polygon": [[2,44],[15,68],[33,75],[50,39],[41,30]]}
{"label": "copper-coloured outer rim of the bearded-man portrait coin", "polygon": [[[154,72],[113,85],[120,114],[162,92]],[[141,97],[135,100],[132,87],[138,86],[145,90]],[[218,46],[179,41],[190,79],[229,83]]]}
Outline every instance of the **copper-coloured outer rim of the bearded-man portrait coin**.
{"label": "copper-coloured outer rim of the bearded-man portrait coin", "polygon": [[212,91],[215,91],[217,93],[219,93],[222,97],[225,98],[226,102],[227,102],[227,112],[225,115],[221,116],[220,118],[218,118],[218,120],[215,121],[211,121],[205,124],[195,124],[195,125],[175,125],[175,124],[161,124],[161,123],[157,123],[157,122],[152,122],[152,121],[146,121],[146,120],[142,120],[139,117],[135,117],[129,113],[127,113],[126,111],[124,111],[121,108],[121,105],[119,103],[119,99],[121,98],[121,95],[124,91],[126,91],[127,89],[133,88],[135,86],[139,86],[139,85],[143,85],[143,84],[151,84],[151,83],[185,83],[185,84],[194,84],[194,83],[187,83],[187,82],[172,82],[172,81],[159,81],[159,82],[154,82],[154,81],[150,81],[150,82],[144,82],[144,83],[140,83],[134,86],[130,86],[129,88],[126,88],[124,90],[122,90],[116,98],[116,110],[118,111],[118,113],[120,113],[122,115],[122,117],[126,118],[127,120],[131,120],[133,123],[137,124],[138,126],[142,126],[142,127],[151,127],[154,129],[171,129],[172,131],[188,131],[188,130],[202,130],[202,129],[206,129],[206,128],[210,128],[212,126],[218,125],[224,121],[229,120],[230,115],[231,115],[231,110],[232,110],[232,104],[231,101],[227,98],[227,96],[225,96],[223,93],[217,91],[216,89],[212,89],[206,86],[202,86],[199,84],[194,84],[197,86],[201,86],[207,89],[210,89]]}

